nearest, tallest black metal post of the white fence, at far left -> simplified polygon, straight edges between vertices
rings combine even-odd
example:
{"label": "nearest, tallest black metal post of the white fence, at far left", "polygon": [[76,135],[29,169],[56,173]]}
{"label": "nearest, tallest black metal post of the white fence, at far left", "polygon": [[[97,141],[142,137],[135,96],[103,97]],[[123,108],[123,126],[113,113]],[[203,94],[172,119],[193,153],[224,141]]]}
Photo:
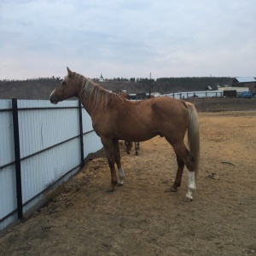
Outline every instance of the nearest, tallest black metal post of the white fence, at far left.
{"label": "nearest, tallest black metal post of the white fence, at far left", "polygon": [[14,139],[15,139],[15,174],[16,174],[17,209],[18,209],[18,218],[23,218],[21,172],[20,172],[20,134],[19,134],[17,99],[12,99],[12,108],[13,108],[13,125],[14,125]]}

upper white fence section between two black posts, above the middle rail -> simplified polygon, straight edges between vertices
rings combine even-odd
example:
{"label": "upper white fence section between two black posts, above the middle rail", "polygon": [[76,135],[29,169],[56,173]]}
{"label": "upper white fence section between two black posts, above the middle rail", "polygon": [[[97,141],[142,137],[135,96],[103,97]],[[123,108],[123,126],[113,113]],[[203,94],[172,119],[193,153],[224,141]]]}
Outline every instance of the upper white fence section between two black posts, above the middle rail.
{"label": "upper white fence section between two black posts, above the middle rail", "polygon": [[78,102],[61,102],[57,108],[48,102],[18,102],[21,158],[79,135]]}

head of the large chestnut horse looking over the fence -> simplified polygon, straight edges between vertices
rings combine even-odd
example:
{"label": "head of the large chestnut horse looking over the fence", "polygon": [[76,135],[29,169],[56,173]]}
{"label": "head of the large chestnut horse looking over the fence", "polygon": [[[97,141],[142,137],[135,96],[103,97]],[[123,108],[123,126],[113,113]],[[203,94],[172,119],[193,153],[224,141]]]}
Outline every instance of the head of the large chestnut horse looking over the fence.
{"label": "head of the large chestnut horse looking over the fence", "polygon": [[77,96],[77,84],[75,83],[75,74],[67,67],[67,76],[61,84],[57,85],[49,96],[49,101],[53,104],[64,101],[67,98]]}

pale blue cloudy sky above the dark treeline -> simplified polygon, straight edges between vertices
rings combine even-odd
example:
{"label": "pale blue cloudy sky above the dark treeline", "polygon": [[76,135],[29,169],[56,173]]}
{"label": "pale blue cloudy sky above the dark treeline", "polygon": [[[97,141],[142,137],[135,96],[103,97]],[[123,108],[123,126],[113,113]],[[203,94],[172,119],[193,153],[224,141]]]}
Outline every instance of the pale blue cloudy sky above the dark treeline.
{"label": "pale blue cloudy sky above the dark treeline", "polygon": [[255,0],[0,0],[0,79],[255,77]]}

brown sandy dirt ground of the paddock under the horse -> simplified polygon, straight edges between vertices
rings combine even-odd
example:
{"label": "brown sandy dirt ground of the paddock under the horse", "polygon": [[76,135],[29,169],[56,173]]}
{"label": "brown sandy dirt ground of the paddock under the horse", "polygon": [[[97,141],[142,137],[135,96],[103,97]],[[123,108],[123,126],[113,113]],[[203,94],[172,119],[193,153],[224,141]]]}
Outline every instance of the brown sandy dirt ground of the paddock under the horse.
{"label": "brown sandy dirt ground of the paddock under the horse", "polygon": [[195,200],[177,193],[164,138],[125,154],[125,184],[105,193],[108,162],[90,160],[55,189],[47,207],[0,238],[0,255],[256,255],[256,111],[199,113]]}

